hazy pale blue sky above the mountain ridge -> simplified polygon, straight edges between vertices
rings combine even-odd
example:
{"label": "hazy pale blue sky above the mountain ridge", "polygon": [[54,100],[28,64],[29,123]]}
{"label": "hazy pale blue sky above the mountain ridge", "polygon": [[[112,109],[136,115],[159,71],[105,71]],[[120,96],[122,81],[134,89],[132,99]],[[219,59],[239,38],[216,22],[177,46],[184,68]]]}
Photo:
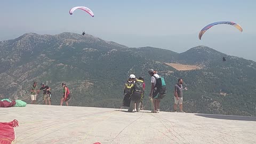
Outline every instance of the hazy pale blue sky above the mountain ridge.
{"label": "hazy pale blue sky above the mountain ridge", "polygon": [[[74,6],[89,7],[95,17]],[[256,1],[196,0],[8,0],[0,5],[0,41],[25,33],[59,34],[82,30],[107,41],[130,47],[154,46],[184,52],[197,45],[256,61]],[[199,31],[215,21],[234,21],[243,27],[217,25]]]}

